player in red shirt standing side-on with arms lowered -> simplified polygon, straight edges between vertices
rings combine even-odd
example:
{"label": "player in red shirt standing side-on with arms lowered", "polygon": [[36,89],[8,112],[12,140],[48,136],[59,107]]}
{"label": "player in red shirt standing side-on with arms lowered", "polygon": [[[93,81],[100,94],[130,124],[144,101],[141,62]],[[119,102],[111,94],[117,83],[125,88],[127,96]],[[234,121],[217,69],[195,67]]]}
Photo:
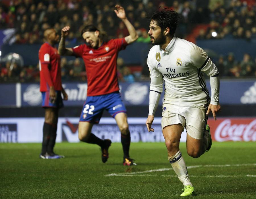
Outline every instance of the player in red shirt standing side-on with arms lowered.
{"label": "player in red shirt standing side-on with arms lowered", "polygon": [[40,91],[42,92],[42,107],[45,109],[43,127],[43,142],[40,158],[57,159],[64,157],[53,152],[55,145],[58,112],[67,100],[67,94],[61,85],[60,55],[53,46],[59,42],[59,35],[53,28],[44,31],[46,42],[39,50]]}

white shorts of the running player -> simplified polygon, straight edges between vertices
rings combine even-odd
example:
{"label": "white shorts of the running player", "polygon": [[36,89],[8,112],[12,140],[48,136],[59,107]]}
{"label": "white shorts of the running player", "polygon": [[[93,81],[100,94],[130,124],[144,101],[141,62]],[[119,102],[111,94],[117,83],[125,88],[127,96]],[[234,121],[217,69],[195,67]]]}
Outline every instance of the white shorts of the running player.
{"label": "white shorts of the running player", "polygon": [[172,124],[181,124],[186,128],[187,134],[195,139],[203,139],[208,116],[207,105],[197,106],[194,104],[172,102],[163,103],[162,130]]}

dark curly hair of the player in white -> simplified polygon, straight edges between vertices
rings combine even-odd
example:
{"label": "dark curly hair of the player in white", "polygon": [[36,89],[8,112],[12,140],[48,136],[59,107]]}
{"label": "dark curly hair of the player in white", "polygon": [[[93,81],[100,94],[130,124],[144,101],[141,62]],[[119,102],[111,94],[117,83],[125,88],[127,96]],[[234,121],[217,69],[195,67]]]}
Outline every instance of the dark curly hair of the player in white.
{"label": "dark curly hair of the player in white", "polygon": [[158,11],[153,12],[148,19],[154,20],[156,25],[161,27],[161,30],[170,28],[170,35],[174,35],[180,16],[174,10],[169,8],[160,8]]}

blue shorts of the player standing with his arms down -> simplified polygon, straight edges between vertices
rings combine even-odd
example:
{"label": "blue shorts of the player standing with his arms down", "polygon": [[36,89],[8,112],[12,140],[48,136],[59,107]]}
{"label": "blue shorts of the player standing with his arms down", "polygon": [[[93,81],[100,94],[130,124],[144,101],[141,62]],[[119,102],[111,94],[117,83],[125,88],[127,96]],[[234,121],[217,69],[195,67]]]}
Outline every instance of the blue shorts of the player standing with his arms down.
{"label": "blue shorts of the player standing with his arms down", "polygon": [[56,92],[56,100],[54,103],[50,102],[49,96],[50,91],[42,92],[42,107],[43,108],[61,108],[63,107],[63,100],[61,97],[61,91],[55,91]]}

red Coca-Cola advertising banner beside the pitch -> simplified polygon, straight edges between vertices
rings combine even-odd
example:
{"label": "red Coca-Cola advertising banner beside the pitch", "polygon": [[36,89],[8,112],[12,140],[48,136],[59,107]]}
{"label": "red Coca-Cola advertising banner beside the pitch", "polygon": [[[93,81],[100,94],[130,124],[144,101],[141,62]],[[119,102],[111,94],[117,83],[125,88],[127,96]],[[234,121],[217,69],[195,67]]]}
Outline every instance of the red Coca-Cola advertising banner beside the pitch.
{"label": "red Coca-Cola advertising banner beside the pitch", "polygon": [[256,141],[256,118],[208,119],[214,141]]}

